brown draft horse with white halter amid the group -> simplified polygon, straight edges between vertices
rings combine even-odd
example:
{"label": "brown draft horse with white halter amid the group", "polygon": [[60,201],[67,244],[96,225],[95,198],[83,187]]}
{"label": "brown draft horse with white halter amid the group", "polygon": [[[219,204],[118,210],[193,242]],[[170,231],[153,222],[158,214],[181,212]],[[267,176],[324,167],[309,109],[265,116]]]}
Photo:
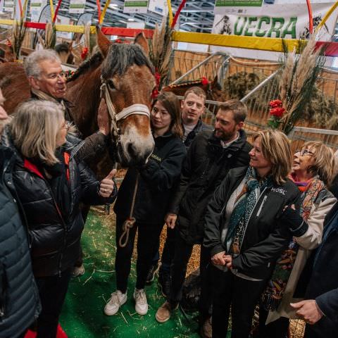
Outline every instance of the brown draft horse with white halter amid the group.
{"label": "brown draft horse with white halter amid the group", "polygon": [[[98,30],[97,44],[101,53],[94,54],[89,61],[80,65],[68,82],[65,96],[74,104],[71,114],[84,137],[98,129],[96,112],[101,101],[102,84],[106,84],[113,103],[111,116],[125,111],[124,108],[128,112],[132,110],[132,115],[116,123],[118,158],[126,166],[144,163],[154,148],[149,114],[144,113],[146,109],[149,111],[151,105],[151,92],[155,86],[154,68],[146,56],[148,44],[144,36],[138,35],[135,43],[111,44]],[[6,98],[6,111],[13,113],[20,102],[30,98],[23,66],[18,63],[0,64],[0,88]]]}

